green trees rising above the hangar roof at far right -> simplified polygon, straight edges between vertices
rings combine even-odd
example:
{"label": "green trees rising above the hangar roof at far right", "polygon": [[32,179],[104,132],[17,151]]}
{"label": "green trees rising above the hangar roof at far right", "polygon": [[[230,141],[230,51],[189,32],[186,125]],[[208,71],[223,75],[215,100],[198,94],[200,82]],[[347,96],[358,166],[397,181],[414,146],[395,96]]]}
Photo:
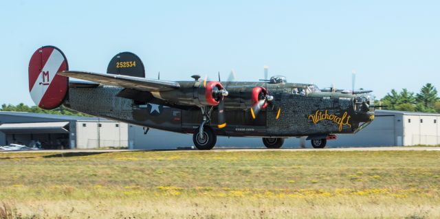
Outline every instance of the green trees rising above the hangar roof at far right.
{"label": "green trees rising above the hangar roof at far right", "polygon": [[437,89],[428,83],[414,93],[408,89],[397,92],[392,89],[381,100],[376,100],[375,105],[384,105],[391,111],[410,111],[423,113],[440,113],[440,98]]}

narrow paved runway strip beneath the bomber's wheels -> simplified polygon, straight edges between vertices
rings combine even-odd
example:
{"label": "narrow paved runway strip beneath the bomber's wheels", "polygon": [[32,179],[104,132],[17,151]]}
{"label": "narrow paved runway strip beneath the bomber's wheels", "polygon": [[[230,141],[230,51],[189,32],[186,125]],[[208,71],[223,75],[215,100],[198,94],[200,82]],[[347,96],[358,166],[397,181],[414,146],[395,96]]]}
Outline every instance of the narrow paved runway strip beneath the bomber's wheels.
{"label": "narrow paved runway strip beneath the bomber's wheels", "polygon": [[21,150],[21,151],[0,151],[0,152],[127,152],[127,151],[164,151],[164,152],[242,152],[242,151],[285,151],[285,152],[305,152],[305,151],[410,151],[410,150],[428,150],[440,151],[440,147],[368,147],[368,148],[286,148],[286,149],[265,149],[265,148],[214,148],[212,150],[197,150],[197,149],[170,149],[170,150],[108,150],[108,149],[94,149],[94,150]]}

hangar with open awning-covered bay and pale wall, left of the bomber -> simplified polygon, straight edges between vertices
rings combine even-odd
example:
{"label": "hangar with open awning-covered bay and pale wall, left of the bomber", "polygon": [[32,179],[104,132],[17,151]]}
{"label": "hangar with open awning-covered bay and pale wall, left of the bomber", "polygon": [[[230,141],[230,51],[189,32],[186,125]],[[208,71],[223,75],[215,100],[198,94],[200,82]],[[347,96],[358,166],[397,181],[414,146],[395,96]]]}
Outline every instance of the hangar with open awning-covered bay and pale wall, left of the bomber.
{"label": "hangar with open awning-covered bay and pale wall, left of the bomber", "polygon": [[45,149],[127,147],[127,124],[97,117],[0,112],[0,146],[39,141]]}

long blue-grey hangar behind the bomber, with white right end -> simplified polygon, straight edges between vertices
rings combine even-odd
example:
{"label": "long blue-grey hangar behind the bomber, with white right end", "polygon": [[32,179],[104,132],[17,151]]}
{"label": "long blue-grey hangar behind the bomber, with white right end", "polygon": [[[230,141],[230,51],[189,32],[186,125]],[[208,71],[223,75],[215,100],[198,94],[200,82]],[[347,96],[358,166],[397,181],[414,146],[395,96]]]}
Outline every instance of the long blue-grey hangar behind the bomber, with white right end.
{"label": "long blue-grey hangar behind the bomber, with white right end", "polygon": [[[375,119],[356,134],[338,135],[326,147],[414,146],[440,144],[440,114],[376,110]],[[175,149],[193,145],[192,135],[149,130],[129,125],[130,149]],[[283,148],[300,148],[300,139],[292,137]],[[306,148],[311,143],[306,141]],[[265,148],[260,137],[217,137],[215,148]]]}

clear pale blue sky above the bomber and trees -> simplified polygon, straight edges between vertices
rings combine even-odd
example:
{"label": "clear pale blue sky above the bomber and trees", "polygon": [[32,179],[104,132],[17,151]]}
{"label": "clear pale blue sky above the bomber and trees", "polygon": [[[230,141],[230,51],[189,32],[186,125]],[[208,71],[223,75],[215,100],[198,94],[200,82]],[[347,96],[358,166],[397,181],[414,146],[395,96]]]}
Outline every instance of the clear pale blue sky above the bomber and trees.
{"label": "clear pale blue sky above the bomber and trees", "polygon": [[32,104],[35,49],[62,49],[71,70],[104,73],[120,51],[146,77],[237,80],[282,74],[289,82],[419,91],[440,88],[440,1],[3,1],[0,103]]}

